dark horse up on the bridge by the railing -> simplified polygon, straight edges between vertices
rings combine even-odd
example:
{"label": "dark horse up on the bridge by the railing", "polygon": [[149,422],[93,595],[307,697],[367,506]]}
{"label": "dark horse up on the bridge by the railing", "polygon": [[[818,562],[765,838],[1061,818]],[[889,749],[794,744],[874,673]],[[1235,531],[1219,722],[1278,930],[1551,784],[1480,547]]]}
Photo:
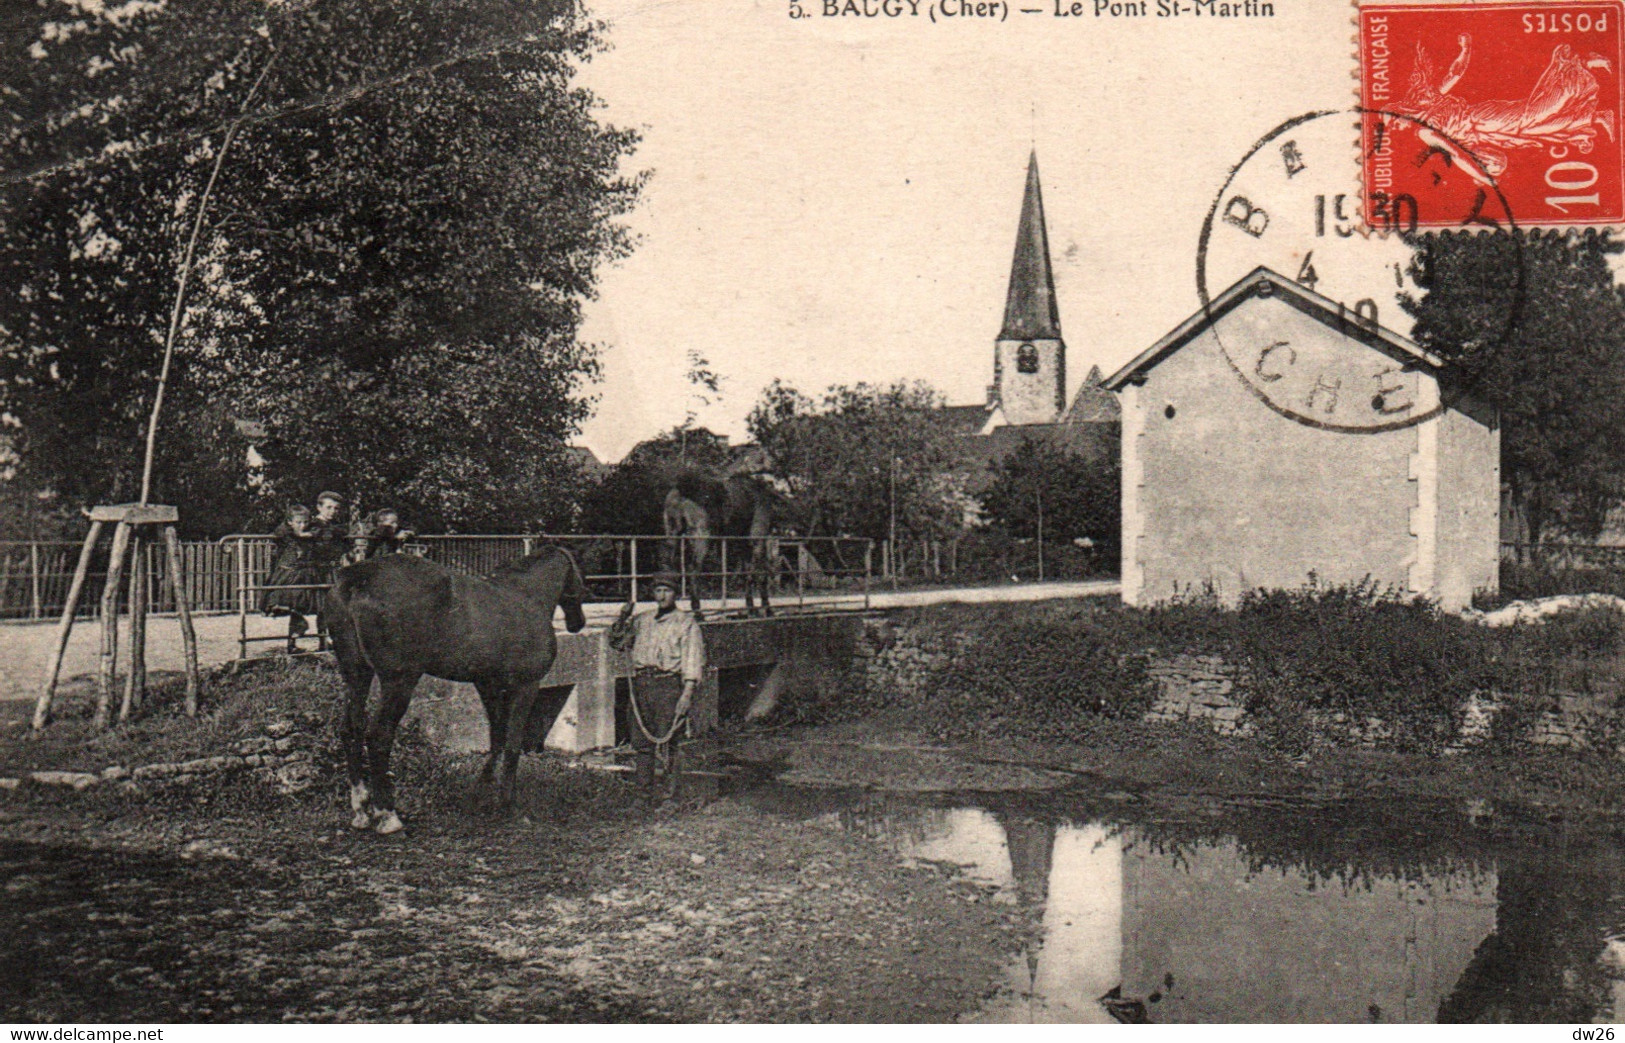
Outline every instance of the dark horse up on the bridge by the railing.
{"label": "dark horse up on the bridge by the railing", "polygon": [[[751,595],[760,591],[762,612],[774,614],[767,603],[767,536],[774,531],[778,494],[754,474],[708,474],[687,470],[678,474],[666,492],[666,567],[704,572],[705,560],[717,551],[718,536],[751,536],[744,559],[744,611],[756,614]],[[681,547],[681,552],[679,552]],[[734,556],[734,562],[739,557]],[[689,601],[700,611],[699,577],[689,583]]]}

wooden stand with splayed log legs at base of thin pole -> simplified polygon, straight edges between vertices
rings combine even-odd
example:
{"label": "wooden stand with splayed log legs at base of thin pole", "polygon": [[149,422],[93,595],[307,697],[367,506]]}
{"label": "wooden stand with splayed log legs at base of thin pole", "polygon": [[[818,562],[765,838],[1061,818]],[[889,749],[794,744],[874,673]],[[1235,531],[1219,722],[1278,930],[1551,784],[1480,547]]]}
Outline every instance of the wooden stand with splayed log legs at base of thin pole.
{"label": "wooden stand with splayed log legs at base of thin pole", "polygon": [[130,560],[130,673],[125,676],[124,700],[119,705],[119,720],[124,721],[141,703],[146,695],[146,603],[150,577],[146,557],[141,552],[141,531],[159,528],[164,541],[164,554],[169,564],[169,583],[176,591],[176,614],[180,617],[180,640],[185,647],[187,663],[187,716],[198,713],[198,638],[192,629],[192,611],[187,606],[187,582],[180,567],[180,541],[176,536],[176,522],[180,512],[159,504],[114,504],[93,507],[91,531],[84,534],[84,546],[80,547],[78,565],[73,567],[73,582],[68,585],[68,599],[62,606],[62,619],[57,622],[57,640],[52,645],[50,660],[46,666],[46,686],[34,703],[34,731],[44,729],[50,723],[50,705],[57,694],[57,677],[62,673],[62,655],[68,647],[68,635],[73,632],[73,616],[80,606],[80,595],[84,591],[84,577],[89,573],[91,556],[101,539],[107,523],[114,523],[112,547],[107,559],[107,583],[102,588],[102,647],[101,669],[96,682],[96,718],[94,726],[102,729],[112,720],[112,694],[119,676],[119,588],[124,585],[125,559]]}

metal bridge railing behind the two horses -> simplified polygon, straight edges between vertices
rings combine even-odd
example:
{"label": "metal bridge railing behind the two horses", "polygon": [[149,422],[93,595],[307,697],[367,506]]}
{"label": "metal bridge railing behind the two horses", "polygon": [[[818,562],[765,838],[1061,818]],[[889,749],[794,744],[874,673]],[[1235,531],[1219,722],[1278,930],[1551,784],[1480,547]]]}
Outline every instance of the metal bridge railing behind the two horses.
{"label": "metal bridge railing behind the two horses", "polygon": [[[320,643],[307,635],[252,634],[249,619],[258,616],[260,596],[270,590],[327,590],[327,585],[276,585],[271,572],[275,541],[270,536],[234,534],[232,544],[239,656],[255,643],[289,643],[294,651]],[[406,544],[418,554],[470,575],[488,575],[541,546],[562,546],[575,557],[587,583],[588,604],[616,604],[652,596],[650,580],[670,570],[682,578],[684,601],[700,598],[708,614],[730,614],[746,608],[748,572],[762,573],[774,611],[829,612],[869,608],[874,572],[874,544],[869,539],[803,536],[710,538],[704,562],[696,562],[699,538],[682,536],[418,536]],[[676,546],[673,554],[671,547]],[[671,559],[676,560],[671,560]],[[301,643],[304,642],[304,643]]]}

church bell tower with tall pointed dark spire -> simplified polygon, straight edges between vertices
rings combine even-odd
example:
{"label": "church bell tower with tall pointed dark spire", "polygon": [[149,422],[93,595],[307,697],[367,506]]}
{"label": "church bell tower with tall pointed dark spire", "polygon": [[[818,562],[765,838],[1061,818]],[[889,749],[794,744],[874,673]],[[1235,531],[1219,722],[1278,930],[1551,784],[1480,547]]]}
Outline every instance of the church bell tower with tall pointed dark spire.
{"label": "church bell tower with tall pointed dark spire", "polygon": [[1055,307],[1037,149],[1027,159],[1027,193],[1016,229],[1004,328],[993,344],[990,392],[1009,424],[1053,424],[1066,409],[1066,343],[1061,341],[1061,315]]}

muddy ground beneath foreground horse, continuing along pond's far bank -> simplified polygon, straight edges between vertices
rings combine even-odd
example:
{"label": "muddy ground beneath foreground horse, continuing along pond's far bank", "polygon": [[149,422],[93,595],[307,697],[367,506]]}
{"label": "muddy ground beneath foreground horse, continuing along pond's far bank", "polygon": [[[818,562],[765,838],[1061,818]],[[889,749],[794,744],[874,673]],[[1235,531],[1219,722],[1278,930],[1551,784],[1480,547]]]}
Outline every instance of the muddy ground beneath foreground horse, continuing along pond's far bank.
{"label": "muddy ground beneath foreground horse, continuing along pond's far bank", "polygon": [[[70,692],[44,741],[0,728],[0,775],[223,752],[330,679],[216,679],[109,736]],[[318,720],[312,716],[310,720]],[[320,733],[314,728],[314,733]],[[405,833],[351,832],[330,742],[314,785],[255,772],[0,790],[0,1020],[933,1022],[972,1014],[1035,924],[949,866],[817,814],[842,788],[1066,791],[1190,809],[1404,794],[1503,819],[1614,824],[1610,759],[1287,760],[1188,726],[1087,747],[942,746],[907,720],[730,729],[650,806],[618,772],[526,759],[520,814],[471,804],[478,760],[406,736]]]}

